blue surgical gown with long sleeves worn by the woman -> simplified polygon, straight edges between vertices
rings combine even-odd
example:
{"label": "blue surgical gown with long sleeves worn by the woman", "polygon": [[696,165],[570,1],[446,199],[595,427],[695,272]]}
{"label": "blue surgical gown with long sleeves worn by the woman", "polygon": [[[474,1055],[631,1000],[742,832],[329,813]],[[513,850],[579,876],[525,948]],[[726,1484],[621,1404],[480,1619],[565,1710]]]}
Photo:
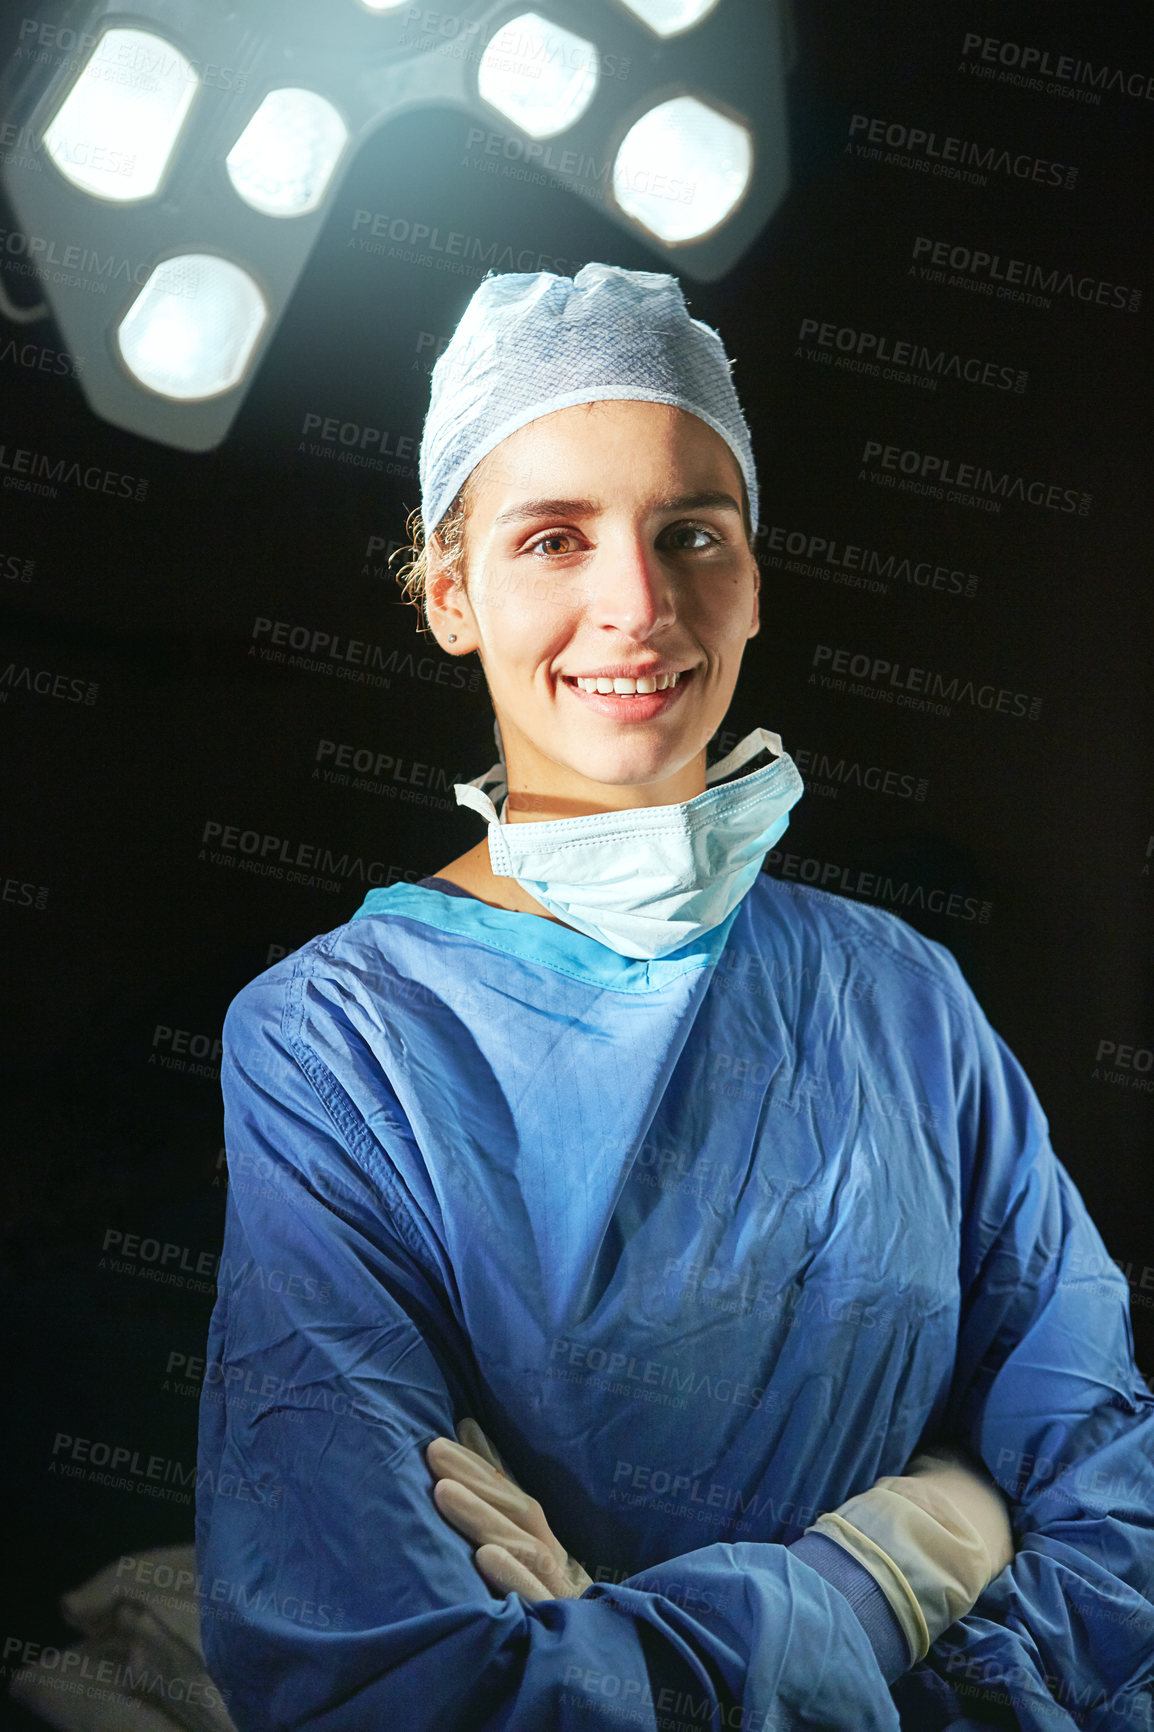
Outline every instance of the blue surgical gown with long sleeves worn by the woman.
{"label": "blue surgical gown with long sleeves worn by the woman", "polygon": [[[759,878],[631,961],[369,894],[225,1022],[203,1637],[241,1732],[1154,1723],[1128,1289],[950,953]],[[494,1595],[471,1413],[593,1587]],[[1017,1555],[887,1687],[788,1547],[920,1441]]]}

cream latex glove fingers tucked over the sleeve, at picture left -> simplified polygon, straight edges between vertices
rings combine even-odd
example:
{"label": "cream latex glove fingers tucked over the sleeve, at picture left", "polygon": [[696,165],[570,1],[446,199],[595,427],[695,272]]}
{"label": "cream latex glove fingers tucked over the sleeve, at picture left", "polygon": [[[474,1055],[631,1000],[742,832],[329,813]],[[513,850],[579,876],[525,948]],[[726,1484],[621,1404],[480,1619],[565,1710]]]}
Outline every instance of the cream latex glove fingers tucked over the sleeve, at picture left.
{"label": "cream latex glove fingers tucked over the sleeve, at picture left", "polygon": [[593,1578],[554,1538],[537,1498],[522,1491],[475,1419],[456,1431],[456,1443],[433,1438],[425,1450],[433,1503],[471,1540],[489,1587],[525,1600],[580,1599]]}

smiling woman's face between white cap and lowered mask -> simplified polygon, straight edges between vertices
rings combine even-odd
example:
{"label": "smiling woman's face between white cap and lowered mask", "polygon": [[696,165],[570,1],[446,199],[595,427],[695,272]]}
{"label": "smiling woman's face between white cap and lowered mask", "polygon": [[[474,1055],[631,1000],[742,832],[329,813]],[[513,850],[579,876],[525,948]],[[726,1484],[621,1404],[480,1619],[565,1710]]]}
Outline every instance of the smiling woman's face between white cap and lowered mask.
{"label": "smiling woman's face between white cap and lowered mask", "polygon": [[433,554],[428,613],[480,653],[509,818],[700,793],[757,630],[724,440],[665,404],[577,404],[502,440],[470,492],[466,589]]}

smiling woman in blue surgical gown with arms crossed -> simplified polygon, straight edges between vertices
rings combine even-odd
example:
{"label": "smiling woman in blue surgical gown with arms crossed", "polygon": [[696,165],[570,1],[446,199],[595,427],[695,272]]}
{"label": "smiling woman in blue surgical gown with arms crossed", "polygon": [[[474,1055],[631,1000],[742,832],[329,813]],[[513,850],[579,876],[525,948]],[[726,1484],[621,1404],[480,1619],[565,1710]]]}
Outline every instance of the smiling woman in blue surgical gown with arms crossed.
{"label": "smiling woman in blue surgical gown with arms crossed", "polygon": [[421,490],[501,762],[225,1022],[237,1727],[1154,1725],[1126,1283],[950,953],[761,873],[780,740],[707,772],[759,629],[721,341],[672,277],[489,277]]}

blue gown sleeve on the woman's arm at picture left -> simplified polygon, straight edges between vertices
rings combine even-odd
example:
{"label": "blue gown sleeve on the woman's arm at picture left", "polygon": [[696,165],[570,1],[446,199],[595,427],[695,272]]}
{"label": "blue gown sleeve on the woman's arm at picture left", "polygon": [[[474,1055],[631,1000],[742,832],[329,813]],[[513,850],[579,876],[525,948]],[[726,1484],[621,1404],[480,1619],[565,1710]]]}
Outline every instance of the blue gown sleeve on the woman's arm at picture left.
{"label": "blue gown sleeve on the woman's arm at picture left", "polygon": [[[230,1190],[198,1457],[203,1642],[239,1732],[892,1732],[849,1600],[787,1547],[707,1545],[648,1567],[645,1592],[489,1590],[425,1465],[477,1412],[475,1373],[452,1275],[388,1159],[399,1108],[386,1088],[379,1112],[353,1107],[324,1046],[291,1032],[301,984],[284,979],[260,977],[225,1022]],[[371,1063],[350,1022],[341,1072]]]}

